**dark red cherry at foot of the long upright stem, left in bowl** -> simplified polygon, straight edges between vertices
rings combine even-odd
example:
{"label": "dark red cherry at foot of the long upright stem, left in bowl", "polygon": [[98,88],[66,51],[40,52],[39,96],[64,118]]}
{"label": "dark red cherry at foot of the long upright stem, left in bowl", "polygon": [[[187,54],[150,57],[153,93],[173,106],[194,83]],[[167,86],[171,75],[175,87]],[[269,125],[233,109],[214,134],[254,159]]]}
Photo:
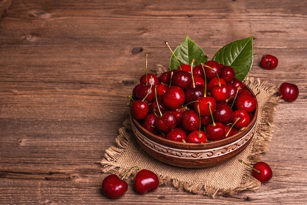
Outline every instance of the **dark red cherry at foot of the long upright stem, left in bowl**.
{"label": "dark red cherry at foot of the long upright stem, left in bowl", "polygon": [[176,126],[177,119],[172,111],[165,111],[161,117],[155,119],[154,123],[154,127],[162,133],[168,133]]}

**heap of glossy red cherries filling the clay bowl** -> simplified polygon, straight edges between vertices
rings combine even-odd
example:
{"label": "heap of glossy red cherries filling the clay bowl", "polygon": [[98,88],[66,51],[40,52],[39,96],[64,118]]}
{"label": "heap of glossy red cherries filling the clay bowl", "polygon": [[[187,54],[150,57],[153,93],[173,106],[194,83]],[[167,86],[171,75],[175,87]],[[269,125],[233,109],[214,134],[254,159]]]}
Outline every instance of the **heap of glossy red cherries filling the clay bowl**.
{"label": "heap of glossy red cherries filling the clay bowl", "polygon": [[145,129],[186,143],[230,137],[250,123],[257,106],[233,68],[213,60],[160,76],[146,72],[130,98],[131,114]]}

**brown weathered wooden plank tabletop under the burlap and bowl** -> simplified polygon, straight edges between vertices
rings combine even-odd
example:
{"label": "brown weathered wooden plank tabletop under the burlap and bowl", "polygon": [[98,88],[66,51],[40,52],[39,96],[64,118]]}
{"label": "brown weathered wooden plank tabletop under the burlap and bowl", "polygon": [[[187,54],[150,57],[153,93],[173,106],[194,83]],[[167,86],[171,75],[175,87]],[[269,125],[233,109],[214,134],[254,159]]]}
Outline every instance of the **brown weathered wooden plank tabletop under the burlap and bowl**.
{"label": "brown weathered wooden plank tabletop under the burlap and bowl", "polygon": [[[0,204],[307,204],[307,1],[1,0]],[[215,199],[174,189],[110,200],[100,161],[128,117],[127,95],[145,71],[169,65],[189,35],[209,59],[255,36],[249,76],[295,83],[280,103],[263,160],[274,176],[255,192]],[[279,58],[264,70],[264,54]],[[128,181],[132,185],[131,181]]]}

